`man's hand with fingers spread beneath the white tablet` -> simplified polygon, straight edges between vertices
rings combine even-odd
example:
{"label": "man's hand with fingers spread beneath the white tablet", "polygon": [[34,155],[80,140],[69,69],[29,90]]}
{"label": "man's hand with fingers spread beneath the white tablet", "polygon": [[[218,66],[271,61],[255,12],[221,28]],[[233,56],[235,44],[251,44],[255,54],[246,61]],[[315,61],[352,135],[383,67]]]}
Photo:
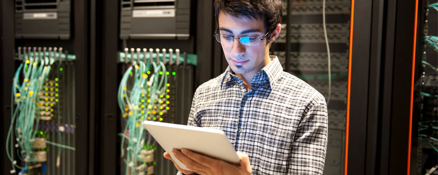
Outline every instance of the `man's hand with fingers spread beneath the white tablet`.
{"label": "man's hand with fingers spread beneath the white tablet", "polygon": [[175,161],[172,160],[170,155],[168,153],[164,153],[163,156],[166,159],[172,160],[172,162],[175,164],[175,167],[181,171],[184,174],[192,174],[192,173],[198,173],[198,174],[251,174],[251,164],[250,164],[250,158],[248,155],[243,154],[242,152],[238,151],[237,155],[240,158],[240,165],[233,165],[228,162],[213,159],[201,154],[197,154],[195,152],[191,152],[186,149],[179,150],[172,150],[172,153],[174,156],[183,163],[188,169],[191,169],[193,171],[187,171],[184,169],[181,169]]}

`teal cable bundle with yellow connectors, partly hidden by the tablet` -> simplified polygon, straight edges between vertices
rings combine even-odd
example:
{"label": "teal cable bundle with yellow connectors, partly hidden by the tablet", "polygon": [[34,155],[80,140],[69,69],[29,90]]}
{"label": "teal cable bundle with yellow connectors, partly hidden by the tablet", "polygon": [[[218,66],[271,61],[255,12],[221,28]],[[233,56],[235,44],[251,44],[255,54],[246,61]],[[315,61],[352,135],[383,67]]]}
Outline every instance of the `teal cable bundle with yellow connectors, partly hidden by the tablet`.
{"label": "teal cable bundle with yellow connectors, partly hidden by the tablet", "polygon": [[[130,50],[130,54],[128,51]],[[136,53],[134,53],[136,51]],[[143,128],[143,121],[163,121],[162,115],[169,111],[170,84],[165,64],[174,54],[169,49],[125,48],[124,63],[128,65],[122,76],[117,94],[118,105],[126,126],[121,141],[121,157],[125,157],[126,174],[152,174],[155,141]],[[168,59],[169,57],[169,59]],[[130,62],[128,62],[130,60]],[[179,64],[179,49],[176,49]],[[172,73],[175,75],[175,72]]]}

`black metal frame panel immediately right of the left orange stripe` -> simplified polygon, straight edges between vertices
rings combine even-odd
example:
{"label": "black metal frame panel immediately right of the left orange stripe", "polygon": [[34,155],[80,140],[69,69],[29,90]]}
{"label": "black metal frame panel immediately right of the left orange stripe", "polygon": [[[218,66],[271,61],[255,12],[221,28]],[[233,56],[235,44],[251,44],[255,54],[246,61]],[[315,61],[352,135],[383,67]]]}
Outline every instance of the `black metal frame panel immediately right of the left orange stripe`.
{"label": "black metal frame panel immediately right of the left orange stripe", "polygon": [[347,173],[366,172],[372,2],[355,1]]}

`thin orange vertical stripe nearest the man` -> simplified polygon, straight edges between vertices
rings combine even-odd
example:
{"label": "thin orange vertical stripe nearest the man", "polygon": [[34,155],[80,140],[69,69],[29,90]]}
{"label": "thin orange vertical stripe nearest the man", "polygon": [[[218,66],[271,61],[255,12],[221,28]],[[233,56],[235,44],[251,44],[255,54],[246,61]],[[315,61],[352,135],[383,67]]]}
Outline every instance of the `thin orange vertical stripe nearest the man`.
{"label": "thin orange vertical stripe nearest the man", "polygon": [[350,17],[350,48],[348,50],[348,88],[347,88],[347,121],[345,131],[345,175],[348,169],[348,135],[350,127],[350,92],[351,92],[351,55],[353,50],[353,21],[354,21],[354,0],[351,0],[351,17]]}

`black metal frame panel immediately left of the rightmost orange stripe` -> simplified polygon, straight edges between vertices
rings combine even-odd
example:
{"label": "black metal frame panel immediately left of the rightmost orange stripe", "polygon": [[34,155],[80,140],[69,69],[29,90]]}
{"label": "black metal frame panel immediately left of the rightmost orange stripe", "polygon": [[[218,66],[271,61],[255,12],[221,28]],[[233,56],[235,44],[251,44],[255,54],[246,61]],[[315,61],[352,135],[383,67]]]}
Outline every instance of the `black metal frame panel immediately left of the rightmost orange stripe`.
{"label": "black metal frame panel immediately left of the rightmost orange stripe", "polygon": [[[379,110],[380,160],[377,166],[380,174],[405,174],[408,173],[407,157],[410,154],[407,150],[415,1],[390,0],[386,2],[386,10],[385,58],[382,60],[384,74],[380,96],[382,107]],[[419,61],[416,60],[417,63]],[[417,77],[418,71],[415,74]]]}

